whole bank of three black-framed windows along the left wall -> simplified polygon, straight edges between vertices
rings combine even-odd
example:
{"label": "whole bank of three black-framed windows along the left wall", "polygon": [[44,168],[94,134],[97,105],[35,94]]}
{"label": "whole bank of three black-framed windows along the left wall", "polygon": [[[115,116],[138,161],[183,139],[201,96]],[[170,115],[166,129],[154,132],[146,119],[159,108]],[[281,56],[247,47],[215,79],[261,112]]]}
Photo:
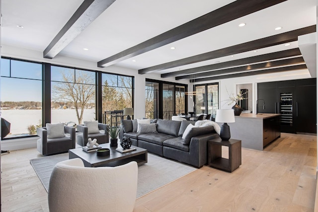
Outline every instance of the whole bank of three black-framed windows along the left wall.
{"label": "whole bank of three black-framed windows along the left wall", "polygon": [[104,110],[133,107],[134,77],[1,58],[0,92],[10,139],[35,135],[45,123],[102,122]]}

